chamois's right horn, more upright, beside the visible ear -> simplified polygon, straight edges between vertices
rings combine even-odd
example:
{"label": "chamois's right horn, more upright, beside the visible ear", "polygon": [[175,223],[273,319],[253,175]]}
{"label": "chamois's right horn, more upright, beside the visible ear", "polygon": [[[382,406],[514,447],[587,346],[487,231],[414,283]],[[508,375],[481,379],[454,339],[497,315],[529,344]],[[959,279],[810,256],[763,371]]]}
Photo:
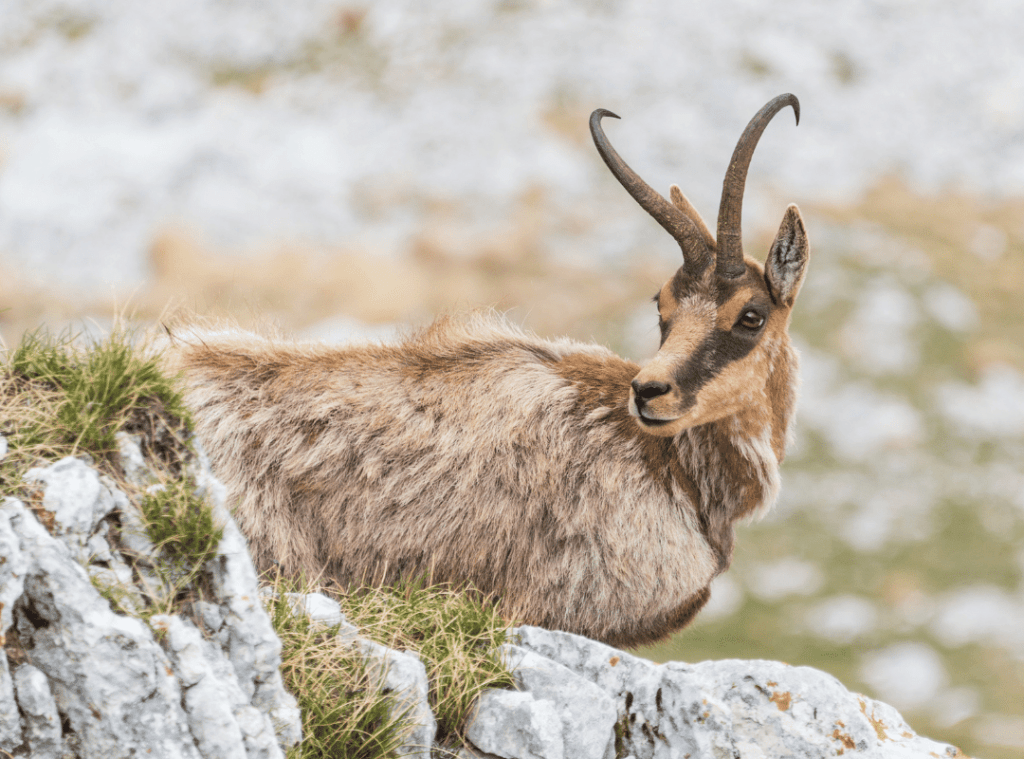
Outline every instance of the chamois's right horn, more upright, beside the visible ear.
{"label": "chamois's right horn, more upright, beside the visible ear", "polygon": [[800,100],[796,95],[779,95],[751,119],[742,136],[736,143],[729,162],[729,170],[722,183],[722,202],[718,207],[718,256],[715,270],[721,277],[739,277],[744,271],[743,241],[740,230],[743,213],[743,187],[746,184],[746,169],[750,168],[754,149],[761,133],[779,111],[792,106],[800,124]]}

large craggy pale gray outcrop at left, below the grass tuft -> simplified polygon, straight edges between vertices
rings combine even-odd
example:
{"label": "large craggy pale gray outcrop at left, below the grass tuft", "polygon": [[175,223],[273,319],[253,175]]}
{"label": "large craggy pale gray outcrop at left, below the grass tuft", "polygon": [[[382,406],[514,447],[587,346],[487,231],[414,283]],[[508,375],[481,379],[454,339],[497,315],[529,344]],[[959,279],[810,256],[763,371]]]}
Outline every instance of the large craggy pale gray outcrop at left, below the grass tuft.
{"label": "large craggy pale gray outcrop at left, below the grass tuft", "polygon": [[[126,469],[148,484],[137,446],[121,442],[137,465]],[[134,506],[87,462],[30,470],[31,507],[2,501],[0,750],[271,759],[298,743],[298,708],[245,541],[209,469],[195,466],[224,538],[202,568],[209,596],[188,615],[143,621],[112,608],[117,597],[122,609],[141,610],[142,589],[166,575]]]}

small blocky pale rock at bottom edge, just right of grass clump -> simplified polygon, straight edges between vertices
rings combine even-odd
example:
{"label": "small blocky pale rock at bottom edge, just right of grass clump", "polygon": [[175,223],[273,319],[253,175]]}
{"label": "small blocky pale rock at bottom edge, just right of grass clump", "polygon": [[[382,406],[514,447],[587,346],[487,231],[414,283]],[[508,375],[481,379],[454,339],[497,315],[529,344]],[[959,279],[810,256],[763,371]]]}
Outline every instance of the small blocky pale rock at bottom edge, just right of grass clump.
{"label": "small blocky pale rock at bottom edge, just right of grass clump", "polygon": [[563,759],[565,739],[555,705],[519,690],[485,690],[466,736],[503,759]]}

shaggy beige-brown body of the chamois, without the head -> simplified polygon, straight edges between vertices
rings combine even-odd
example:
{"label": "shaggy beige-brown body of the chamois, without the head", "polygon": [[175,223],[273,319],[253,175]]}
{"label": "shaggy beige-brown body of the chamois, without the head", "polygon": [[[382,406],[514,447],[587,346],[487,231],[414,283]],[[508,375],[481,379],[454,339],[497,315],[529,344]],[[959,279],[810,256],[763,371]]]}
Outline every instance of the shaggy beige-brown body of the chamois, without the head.
{"label": "shaggy beige-brown body of the chamois, without the head", "polygon": [[636,365],[493,314],[385,345],[173,342],[261,570],[429,574],[516,621],[636,645],[689,621],[728,564],[728,524],[777,490],[775,456],[732,419],[647,435],[627,412]]}

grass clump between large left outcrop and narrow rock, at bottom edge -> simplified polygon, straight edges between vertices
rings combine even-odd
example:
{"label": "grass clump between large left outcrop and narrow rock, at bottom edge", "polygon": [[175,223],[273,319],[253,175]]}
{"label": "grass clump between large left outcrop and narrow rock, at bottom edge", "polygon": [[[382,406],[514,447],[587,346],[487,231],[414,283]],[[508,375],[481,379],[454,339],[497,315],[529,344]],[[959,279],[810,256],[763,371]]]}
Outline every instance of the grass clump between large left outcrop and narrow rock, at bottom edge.
{"label": "grass clump between large left outcrop and narrow rock, at bottom edge", "polygon": [[281,675],[302,712],[302,743],[288,759],[390,759],[410,731],[407,712],[375,682],[358,651],[337,638],[340,626],[311,621],[275,584],[267,610],[281,638]]}

